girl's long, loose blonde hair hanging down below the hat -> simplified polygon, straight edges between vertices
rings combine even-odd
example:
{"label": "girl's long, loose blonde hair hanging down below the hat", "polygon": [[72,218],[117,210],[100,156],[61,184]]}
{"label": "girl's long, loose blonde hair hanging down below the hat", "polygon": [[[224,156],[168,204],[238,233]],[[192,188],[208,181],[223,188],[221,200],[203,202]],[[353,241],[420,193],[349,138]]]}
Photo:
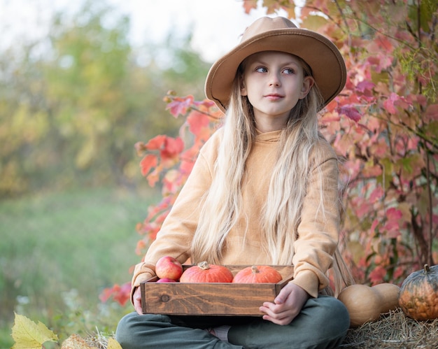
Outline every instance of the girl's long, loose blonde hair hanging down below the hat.
{"label": "girl's long, loose blonde hair hanging down below the hat", "polygon": [[[311,76],[309,66],[300,61],[304,76]],[[203,260],[220,263],[222,251],[227,247],[227,235],[241,215],[241,184],[246,159],[256,135],[253,108],[248,98],[241,96],[243,69],[244,62],[234,79],[213,180],[204,196],[197,231],[192,241],[191,255],[195,263]],[[278,159],[271,171],[267,201],[261,217],[261,245],[264,252],[271,256],[271,264],[292,264],[293,243],[301,222],[309,173],[313,165],[320,163],[320,154],[314,145],[322,137],[318,132],[318,110],[322,105],[323,99],[318,87],[313,85],[309,94],[299,99],[292,108],[288,122],[281,131]],[[309,162],[309,159],[314,161]],[[291,192],[294,195],[290,195]],[[323,197],[320,198],[320,214],[324,214]],[[348,284],[348,280],[342,278],[344,271],[337,267],[342,261],[337,250],[334,258],[335,283],[336,280],[342,280]],[[335,285],[337,291],[341,287],[341,283]]]}

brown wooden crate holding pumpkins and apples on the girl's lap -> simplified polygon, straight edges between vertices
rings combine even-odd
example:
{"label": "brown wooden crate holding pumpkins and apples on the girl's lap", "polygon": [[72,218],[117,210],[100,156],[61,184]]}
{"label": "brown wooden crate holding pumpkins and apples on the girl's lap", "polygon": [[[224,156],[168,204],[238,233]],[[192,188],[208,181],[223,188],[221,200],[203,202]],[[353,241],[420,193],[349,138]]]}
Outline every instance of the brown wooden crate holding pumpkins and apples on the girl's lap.
{"label": "brown wooden crate holding pumpkins and apples on the girl's lap", "polygon": [[[227,265],[233,275],[248,265]],[[187,269],[189,266],[183,266]],[[141,283],[143,313],[171,315],[260,316],[264,301],[274,301],[292,280],[292,266],[273,266],[281,273],[279,283]]]}

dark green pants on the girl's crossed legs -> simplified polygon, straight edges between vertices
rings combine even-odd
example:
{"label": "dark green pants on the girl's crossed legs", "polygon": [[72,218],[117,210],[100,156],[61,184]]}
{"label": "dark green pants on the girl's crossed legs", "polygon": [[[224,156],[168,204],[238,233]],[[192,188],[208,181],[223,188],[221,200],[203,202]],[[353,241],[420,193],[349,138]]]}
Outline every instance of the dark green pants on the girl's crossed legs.
{"label": "dark green pants on the girl's crossed legs", "polygon": [[[231,325],[228,341],[204,328]],[[115,333],[123,349],[136,348],[337,348],[350,318],[340,301],[320,296],[309,299],[290,325],[276,325],[259,317],[168,316],[130,313]]]}

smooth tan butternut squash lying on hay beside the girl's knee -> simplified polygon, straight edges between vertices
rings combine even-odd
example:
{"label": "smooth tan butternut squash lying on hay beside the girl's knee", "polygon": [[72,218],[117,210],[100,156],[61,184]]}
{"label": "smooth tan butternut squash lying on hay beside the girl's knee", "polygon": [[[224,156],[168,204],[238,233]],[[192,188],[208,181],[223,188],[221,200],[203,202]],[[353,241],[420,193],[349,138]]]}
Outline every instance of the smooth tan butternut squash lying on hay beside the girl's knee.
{"label": "smooth tan butternut squash lying on hay beside the girl's knee", "polygon": [[350,314],[350,327],[360,327],[365,322],[379,320],[380,314],[393,311],[398,306],[400,287],[392,283],[350,285],[339,293],[338,299]]}

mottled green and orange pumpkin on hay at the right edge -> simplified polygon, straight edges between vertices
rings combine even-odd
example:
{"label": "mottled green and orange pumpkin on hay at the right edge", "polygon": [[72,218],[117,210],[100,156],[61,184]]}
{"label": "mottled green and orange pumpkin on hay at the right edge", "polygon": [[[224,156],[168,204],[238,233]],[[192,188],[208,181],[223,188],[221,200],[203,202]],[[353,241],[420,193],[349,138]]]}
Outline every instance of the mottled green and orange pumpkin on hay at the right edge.
{"label": "mottled green and orange pumpkin on hay at the right edge", "polygon": [[399,304],[403,312],[415,320],[438,318],[438,265],[425,264],[404,279]]}

